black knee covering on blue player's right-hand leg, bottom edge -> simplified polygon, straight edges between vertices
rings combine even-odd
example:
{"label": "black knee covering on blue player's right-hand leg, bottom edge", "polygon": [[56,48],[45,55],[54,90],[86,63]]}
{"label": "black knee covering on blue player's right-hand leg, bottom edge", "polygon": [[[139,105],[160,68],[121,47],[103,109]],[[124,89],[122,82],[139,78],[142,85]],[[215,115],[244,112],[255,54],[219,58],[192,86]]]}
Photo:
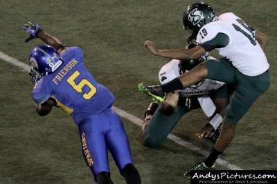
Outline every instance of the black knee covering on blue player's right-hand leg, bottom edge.
{"label": "black knee covering on blue player's right-hand leg, bottom edge", "polygon": [[134,164],[128,163],[125,165],[122,174],[127,183],[141,184],[141,176],[139,175],[138,170],[136,170],[136,167],[134,167]]}

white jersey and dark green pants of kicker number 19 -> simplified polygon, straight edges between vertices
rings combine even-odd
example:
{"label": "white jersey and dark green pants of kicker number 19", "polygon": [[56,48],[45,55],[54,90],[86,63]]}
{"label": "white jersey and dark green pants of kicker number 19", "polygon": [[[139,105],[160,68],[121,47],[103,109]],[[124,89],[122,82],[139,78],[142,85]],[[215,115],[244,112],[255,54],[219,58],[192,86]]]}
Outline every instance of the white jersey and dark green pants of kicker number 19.
{"label": "white jersey and dark green pants of kicker number 19", "polygon": [[207,52],[215,49],[224,57],[206,61],[206,78],[235,85],[226,121],[236,124],[270,84],[269,63],[255,39],[255,30],[235,14],[224,13],[199,30],[197,43]]}

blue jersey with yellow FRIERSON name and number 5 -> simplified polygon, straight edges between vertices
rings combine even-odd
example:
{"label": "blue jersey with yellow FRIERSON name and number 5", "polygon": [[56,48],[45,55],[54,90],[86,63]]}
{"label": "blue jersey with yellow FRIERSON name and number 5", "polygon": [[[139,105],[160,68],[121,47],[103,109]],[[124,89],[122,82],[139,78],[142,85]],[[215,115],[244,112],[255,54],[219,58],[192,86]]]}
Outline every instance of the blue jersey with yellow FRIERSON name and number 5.
{"label": "blue jersey with yellow FRIERSON name and number 5", "polygon": [[90,114],[111,107],[114,95],[93,78],[83,63],[82,50],[70,47],[61,54],[64,63],[52,74],[42,77],[33,89],[33,99],[43,103],[50,97],[57,107],[71,114],[78,125]]}

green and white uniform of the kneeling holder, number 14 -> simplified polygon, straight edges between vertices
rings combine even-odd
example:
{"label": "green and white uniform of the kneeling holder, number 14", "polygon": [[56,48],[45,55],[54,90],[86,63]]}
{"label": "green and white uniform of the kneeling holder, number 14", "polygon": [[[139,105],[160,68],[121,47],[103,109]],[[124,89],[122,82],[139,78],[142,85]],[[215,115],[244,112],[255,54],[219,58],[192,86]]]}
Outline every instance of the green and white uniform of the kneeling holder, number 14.
{"label": "green and white uniform of the kneeling holder, number 14", "polygon": [[[159,80],[163,84],[179,75],[179,60],[173,59],[163,65],[159,71]],[[173,127],[177,125],[187,112],[202,108],[206,116],[211,117],[215,112],[215,105],[212,99],[226,99],[227,97],[226,84],[211,79],[204,79],[190,88],[181,90],[179,92],[177,112],[169,116],[165,115],[161,112],[161,105],[154,112],[143,133],[143,144],[148,147],[159,147],[170,134]]]}

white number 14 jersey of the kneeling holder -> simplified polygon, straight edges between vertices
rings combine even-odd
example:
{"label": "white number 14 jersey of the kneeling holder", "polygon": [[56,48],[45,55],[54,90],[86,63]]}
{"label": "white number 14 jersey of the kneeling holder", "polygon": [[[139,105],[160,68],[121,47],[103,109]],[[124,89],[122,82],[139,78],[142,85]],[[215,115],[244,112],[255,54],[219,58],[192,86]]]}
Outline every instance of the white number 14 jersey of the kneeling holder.
{"label": "white number 14 jersey of the kneeling holder", "polygon": [[[208,57],[208,59],[215,59],[213,57]],[[177,59],[172,59],[166,65],[163,65],[159,71],[159,81],[161,84],[168,83],[180,75],[179,73],[179,63]],[[211,90],[216,90],[224,85],[224,82],[213,81],[211,79],[204,79],[200,81],[197,85],[192,85],[190,88],[181,90],[179,95],[182,97],[189,98],[190,96],[197,96],[199,104],[206,114],[206,116],[211,117],[213,112],[215,112],[215,105],[211,98],[207,95]]]}

